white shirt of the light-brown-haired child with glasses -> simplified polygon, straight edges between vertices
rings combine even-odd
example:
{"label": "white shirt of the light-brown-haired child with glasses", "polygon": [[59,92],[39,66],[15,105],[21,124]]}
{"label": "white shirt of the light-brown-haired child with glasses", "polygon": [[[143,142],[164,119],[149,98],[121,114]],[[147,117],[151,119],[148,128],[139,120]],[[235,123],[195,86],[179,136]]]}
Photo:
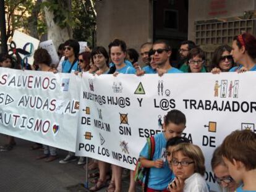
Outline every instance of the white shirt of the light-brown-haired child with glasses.
{"label": "white shirt of the light-brown-haired child with glasses", "polygon": [[205,179],[199,173],[194,173],[185,180],[184,192],[208,192]]}

